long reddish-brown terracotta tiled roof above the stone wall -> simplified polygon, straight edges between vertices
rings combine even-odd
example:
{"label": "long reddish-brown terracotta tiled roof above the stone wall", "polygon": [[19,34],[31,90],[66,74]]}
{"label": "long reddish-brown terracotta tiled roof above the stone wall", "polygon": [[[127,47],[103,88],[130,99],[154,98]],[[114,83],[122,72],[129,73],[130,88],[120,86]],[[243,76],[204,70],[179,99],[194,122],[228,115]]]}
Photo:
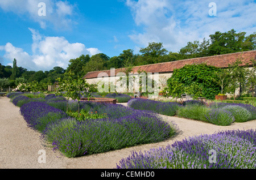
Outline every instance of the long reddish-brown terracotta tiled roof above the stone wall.
{"label": "long reddish-brown terracotta tiled roof above the stone wall", "polygon": [[[184,59],[180,61],[156,63],[152,65],[135,66],[133,68],[133,71],[137,72],[138,70],[144,70],[146,72],[152,72],[152,73],[159,72],[160,74],[160,73],[173,72],[174,69],[181,68],[185,65],[200,64],[200,63],[207,63],[207,65],[216,66],[216,67],[228,67],[229,64],[235,62],[237,58],[240,58],[240,57],[243,62],[241,66],[244,66],[246,63],[250,62],[251,58],[256,59],[256,50],[239,52],[239,53],[214,55],[210,57]],[[121,71],[122,71],[122,68],[115,69],[115,75],[117,75],[117,73]],[[84,78],[86,79],[97,78],[100,72],[106,72],[106,74],[110,76],[110,70],[105,70],[105,71],[88,72],[84,76]]]}

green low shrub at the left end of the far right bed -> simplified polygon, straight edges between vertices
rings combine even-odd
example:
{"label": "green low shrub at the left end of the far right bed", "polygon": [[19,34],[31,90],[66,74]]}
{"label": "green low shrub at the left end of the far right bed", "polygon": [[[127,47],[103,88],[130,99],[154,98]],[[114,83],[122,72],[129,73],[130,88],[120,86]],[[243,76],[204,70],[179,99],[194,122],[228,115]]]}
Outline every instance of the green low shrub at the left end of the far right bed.
{"label": "green low shrub at the left end of the far right bed", "polygon": [[195,120],[201,120],[201,121],[207,121],[207,118],[205,117],[205,114],[209,112],[209,108],[207,106],[201,106],[201,105],[188,105],[188,106],[181,106],[177,110],[177,116],[189,118],[189,119],[195,119]]}

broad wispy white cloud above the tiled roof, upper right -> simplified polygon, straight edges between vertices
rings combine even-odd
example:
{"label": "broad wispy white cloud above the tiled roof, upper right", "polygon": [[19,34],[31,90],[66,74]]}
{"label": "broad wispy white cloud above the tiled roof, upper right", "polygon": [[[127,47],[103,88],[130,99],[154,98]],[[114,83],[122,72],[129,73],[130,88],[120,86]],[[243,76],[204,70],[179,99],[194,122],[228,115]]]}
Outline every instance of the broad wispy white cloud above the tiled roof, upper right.
{"label": "broad wispy white cloud above the tiled roof, upper right", "polygon": [[253,0],[214,1],[217,16],[209,16],[208,1],[127,0],[135,23],[142,32],[133,32],[131,40],[140,46],[163,42],[164,48],[178,52],[188,41],[203,40],[216,31],[235,29],[247,35],[256,31],[256,4]]}

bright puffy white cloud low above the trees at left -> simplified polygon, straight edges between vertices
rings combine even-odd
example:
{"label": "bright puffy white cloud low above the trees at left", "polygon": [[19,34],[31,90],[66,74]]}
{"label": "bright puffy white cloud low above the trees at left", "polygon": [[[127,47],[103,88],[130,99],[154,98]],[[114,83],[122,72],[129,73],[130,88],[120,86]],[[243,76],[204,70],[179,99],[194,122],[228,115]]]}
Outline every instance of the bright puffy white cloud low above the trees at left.
{"label": "bright puffy white cloud low above the trees at left", "polygon": [[101,53],[97,48],[86,48],[79,42],[70,43],[65,37],[45,37],[35,29],[29,28],[32,33],[32,54],[28,54],[22,48],[16,48],[8,42],[0,46],[5,51],[4,58],[9,61],[17,59],[17,66],[30,70],[51,70],[55,66],[68,67],[70,59],[80,57],[82,54],[90,56]]}

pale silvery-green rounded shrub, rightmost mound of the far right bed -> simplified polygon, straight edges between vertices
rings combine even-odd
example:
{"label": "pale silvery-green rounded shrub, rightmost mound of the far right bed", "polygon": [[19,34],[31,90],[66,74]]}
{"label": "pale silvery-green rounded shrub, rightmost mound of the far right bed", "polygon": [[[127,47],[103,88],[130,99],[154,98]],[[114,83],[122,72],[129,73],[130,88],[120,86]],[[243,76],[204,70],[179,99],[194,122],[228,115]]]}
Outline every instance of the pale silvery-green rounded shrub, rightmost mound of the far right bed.
{"label": "pale silvery-green rounded shrub, rightmost mound of the far right bed", "polygon": [[222,109],[232,113],[236,122],[246,122],[251,119],[251,113],[242,106],[228,105]]}

